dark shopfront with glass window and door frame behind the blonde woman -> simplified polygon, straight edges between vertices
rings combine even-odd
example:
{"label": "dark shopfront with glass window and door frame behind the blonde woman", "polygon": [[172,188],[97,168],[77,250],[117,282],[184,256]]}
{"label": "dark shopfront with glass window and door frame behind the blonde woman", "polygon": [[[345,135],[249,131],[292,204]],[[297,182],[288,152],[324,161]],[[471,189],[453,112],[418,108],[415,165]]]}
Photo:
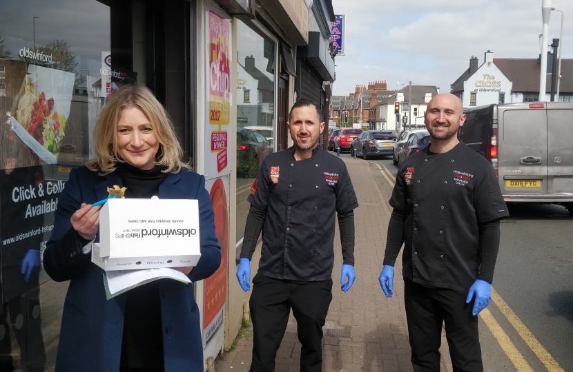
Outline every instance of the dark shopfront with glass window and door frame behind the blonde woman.
{"label": "dark shopfront with glass window and door frame behind the blonde woman", "polygon": [[69,282],[46,275],[43,249],[70,170],[93,158],[110,94],[122,84],[149,87],[197,161],[192,5],[0,2],[0,370],[55,368]]}

